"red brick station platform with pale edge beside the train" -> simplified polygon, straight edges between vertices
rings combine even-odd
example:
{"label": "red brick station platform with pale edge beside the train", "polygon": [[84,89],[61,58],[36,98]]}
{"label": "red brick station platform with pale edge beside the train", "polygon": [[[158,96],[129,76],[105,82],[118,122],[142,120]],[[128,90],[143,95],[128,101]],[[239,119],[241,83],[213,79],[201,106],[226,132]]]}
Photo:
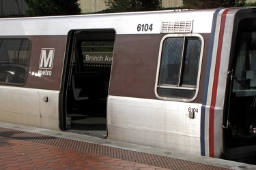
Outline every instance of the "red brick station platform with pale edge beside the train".
{"label": "red brick station platform with pale edge beside the train", "polygon": [[62,131],[0,122],[0,169],[256,169]]}

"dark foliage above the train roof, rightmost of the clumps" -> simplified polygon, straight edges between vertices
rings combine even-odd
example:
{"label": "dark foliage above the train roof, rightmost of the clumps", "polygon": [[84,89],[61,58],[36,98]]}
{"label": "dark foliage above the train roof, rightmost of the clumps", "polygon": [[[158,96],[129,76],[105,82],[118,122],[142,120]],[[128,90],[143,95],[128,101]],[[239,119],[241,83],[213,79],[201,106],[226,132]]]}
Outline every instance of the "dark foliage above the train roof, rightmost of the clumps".
{"label": "dark foliage above the train roof, rightmost of the clumps", "polygon": [[246,0],[183,0],[185,8],[205,9],[216,7],[238,7],[244,6]]}

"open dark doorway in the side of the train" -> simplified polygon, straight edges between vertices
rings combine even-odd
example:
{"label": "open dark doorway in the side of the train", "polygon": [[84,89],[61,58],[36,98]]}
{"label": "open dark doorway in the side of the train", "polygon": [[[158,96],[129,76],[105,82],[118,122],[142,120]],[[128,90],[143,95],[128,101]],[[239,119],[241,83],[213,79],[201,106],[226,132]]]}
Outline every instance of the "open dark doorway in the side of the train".
{"label": "open dark doorway in the side of the train", "polygon": [[[66,130],[106,137],[106,100],[115,31],[77,30],[70,33],[66,74]],[[65,116],[63,116],[65,118]]]}

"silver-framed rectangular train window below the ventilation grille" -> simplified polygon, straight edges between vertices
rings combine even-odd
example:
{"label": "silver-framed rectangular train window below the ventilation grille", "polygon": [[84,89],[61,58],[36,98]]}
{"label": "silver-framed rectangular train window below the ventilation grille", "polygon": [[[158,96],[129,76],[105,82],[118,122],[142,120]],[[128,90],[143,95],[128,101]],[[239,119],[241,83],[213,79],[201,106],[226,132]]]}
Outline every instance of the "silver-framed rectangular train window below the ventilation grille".
{"label": "silver-framed rectangular train window below the ventilation grille", "polygon": [[197,93],[202,37],[165,36],[158,61],[156,94],[160,99],[191,101]]}

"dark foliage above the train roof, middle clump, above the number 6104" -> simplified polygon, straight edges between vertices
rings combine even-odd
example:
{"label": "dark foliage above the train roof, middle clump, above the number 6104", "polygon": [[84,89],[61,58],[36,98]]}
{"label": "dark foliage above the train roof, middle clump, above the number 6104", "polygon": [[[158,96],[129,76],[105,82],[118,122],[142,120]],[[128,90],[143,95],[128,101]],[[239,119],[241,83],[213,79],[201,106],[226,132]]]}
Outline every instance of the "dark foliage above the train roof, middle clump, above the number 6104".
{"label": "dark foliage above the train roof, middle clump, above the number 6104", "polygon": [[137,12],[159,10],[162,0],[106,0],[104,3],[113,12]]}

